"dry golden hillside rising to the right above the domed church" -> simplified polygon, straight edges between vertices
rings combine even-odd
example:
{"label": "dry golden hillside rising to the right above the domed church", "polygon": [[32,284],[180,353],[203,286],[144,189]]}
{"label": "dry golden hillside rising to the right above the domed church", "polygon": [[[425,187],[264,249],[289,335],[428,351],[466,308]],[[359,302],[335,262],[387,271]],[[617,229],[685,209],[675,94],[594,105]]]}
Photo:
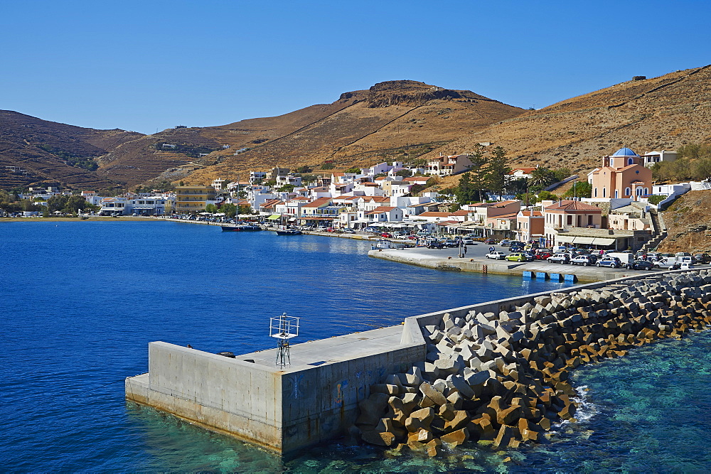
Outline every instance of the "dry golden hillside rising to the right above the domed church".
{"label": "dry golden hillside rising to the right above the domed church", "polygon": [[629,81],[525,112],[433,151],[458,153],[481,141],[503,146],[513,164],[585,171],[629,146],[638,153],[711,140],[711,66]]}

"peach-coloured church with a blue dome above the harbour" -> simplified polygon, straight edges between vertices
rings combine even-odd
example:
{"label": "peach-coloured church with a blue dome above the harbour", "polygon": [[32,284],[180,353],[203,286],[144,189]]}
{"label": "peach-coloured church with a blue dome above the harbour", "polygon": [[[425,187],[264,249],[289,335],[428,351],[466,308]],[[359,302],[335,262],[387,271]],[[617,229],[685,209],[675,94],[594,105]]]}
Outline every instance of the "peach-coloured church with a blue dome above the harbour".
{"label": "peach-coloured church with a blue dome above the harbour", "polygon": [[645,168],[643,157],[626,147],[602,158],[602,168],[592,172],[592,198],[639,200],[651,190],[652,171]]}

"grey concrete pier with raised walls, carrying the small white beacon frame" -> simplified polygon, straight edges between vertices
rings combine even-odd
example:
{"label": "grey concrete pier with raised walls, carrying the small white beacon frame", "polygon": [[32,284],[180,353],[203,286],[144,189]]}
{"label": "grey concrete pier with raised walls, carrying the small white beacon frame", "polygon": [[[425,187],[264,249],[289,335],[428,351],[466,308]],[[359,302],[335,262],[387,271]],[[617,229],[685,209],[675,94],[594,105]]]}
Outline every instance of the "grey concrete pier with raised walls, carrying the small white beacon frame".
{"label": "grey concrete pier with raised walls, carrying the small white beacon frame", "polygon": [[[558,292],[619,286],[667,273],[673,272],[647,272]],[[126,379],[126,398],[277,453],[293,453],[346,433],[371,384],[424,361],[424,325],[439,323],[444,313],[457,317],[471,310],[508,311],[545,294],[412,316],[402,325],[296,344],[292,364],[284,370],[275,365],[276,350],[232,359],[149,343],[149,372]]]}

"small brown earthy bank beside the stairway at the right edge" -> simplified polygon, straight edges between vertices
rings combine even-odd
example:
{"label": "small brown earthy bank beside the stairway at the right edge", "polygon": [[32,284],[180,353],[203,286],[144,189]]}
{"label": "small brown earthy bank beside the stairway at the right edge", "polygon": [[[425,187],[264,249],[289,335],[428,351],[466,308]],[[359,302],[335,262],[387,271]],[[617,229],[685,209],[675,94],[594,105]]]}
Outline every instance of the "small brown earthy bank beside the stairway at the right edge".
{"label": "small brown earthy bank beside the stairway at the right edge", "polygon": [[689,191],[663,212],[668,237],[660,252],[711,252],[711,191]]}

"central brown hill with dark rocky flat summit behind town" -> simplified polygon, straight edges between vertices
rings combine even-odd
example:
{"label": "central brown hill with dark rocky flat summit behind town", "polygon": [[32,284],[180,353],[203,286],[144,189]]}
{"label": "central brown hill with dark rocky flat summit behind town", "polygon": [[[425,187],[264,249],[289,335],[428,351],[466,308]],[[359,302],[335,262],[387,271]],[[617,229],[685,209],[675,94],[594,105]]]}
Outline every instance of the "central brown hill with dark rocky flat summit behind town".
{"label": "central brown hill with dark rocky flat summit behind town", "polygon": [[[269,141],[262,144],[242,141],[241,145],[252,149],[238,156],[232,154],[234,144],[230,150],[217,151],[213,153],[219,161],[215,166],[195,171],[186,181],[208,183],[218,176],[232,178],[240,171],[277,164],[317,166],[332,161],[337,169],[370,166],[384,159],[403,158],[403,151],[409,151],[410,155],[422,153],[418,151],[422,146],[441,146],[523,112],[474,92],[447,90],[416,81],[380,82],[369,90],[346,92],[333,104],[314,107],[282,117],[219,127]],[[287,119],[297,117],[298,121],[291,122],[291,130],[284,126]],[[262,123],[262,134],[258,136],[256,130]],[[275,124],[281,126],[278,131],[287,133],[276,136],[277,129],[269,128]],[[204,133],[215,134],[216,129],[211,127]],[[272,134],[268,135],[269,132]]]}

